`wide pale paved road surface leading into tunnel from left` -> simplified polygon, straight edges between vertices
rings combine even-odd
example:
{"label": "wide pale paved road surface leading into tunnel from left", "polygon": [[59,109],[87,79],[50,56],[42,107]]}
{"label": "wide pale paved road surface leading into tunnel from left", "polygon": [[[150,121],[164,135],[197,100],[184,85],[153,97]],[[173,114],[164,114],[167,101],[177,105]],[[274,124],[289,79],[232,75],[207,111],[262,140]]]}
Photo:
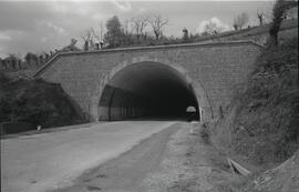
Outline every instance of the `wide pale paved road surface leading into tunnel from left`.
{"label": "wide pale paved road surface leading into tunnel from left", "polygon": [[112,122],[1,140],[1,192],[43,192],[72,185],[84,171],[174,123]]}

